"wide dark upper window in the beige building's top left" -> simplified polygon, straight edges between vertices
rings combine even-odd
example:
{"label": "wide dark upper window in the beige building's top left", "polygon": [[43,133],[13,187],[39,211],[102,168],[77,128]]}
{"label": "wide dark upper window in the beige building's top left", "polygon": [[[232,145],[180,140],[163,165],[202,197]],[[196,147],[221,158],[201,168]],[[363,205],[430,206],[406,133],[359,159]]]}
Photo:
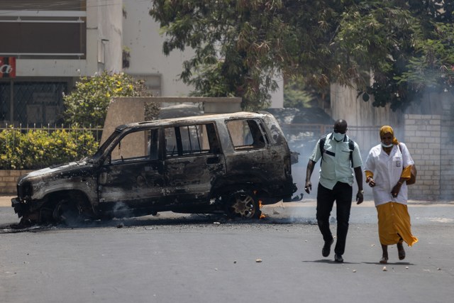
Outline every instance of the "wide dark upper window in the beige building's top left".
{"label": "wide dark upper window in the beige building's top left", "polygon": [[0,3],[0,55],[20,58],[84,58],[87,5],[84,0]]}

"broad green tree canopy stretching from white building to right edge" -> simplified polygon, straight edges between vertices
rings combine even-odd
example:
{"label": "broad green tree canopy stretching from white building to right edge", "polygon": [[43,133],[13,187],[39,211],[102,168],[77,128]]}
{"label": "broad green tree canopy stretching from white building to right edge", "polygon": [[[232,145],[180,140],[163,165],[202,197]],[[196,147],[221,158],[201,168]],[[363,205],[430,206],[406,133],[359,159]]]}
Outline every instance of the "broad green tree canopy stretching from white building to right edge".
{"label": "broad green tree canopy stretching from white building to right edge", "polygon": [[221,84],[250,108],[267,104],[279,74],[382,94],[375,105],[394,109],[428,85],[450,84],[452,12],[443,0],[156,0],[150,9],[167,35],[165,54],[195,51],[185,83],[201,94]]}

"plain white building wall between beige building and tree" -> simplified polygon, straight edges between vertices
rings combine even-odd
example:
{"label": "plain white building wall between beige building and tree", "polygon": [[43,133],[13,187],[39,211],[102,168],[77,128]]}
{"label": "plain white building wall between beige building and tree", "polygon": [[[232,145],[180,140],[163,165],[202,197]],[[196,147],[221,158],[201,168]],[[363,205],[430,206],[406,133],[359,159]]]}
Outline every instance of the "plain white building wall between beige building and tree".
{"label": "plain white building wall between beige building and tree", "polygon": [[[124,72],[145,82],[154,97],[186,97],[192,87],[179,79],[184,60],[189,60],[194,52],[187,48],[165,56],[162,43],[165,37],[160,34],[160,26],[148,13],[151,1],[123,1],[123,49],[128,50],[128,67]],[[279,89],[271,93],[271,107],[284,105],[284,81],[276,77]]]}

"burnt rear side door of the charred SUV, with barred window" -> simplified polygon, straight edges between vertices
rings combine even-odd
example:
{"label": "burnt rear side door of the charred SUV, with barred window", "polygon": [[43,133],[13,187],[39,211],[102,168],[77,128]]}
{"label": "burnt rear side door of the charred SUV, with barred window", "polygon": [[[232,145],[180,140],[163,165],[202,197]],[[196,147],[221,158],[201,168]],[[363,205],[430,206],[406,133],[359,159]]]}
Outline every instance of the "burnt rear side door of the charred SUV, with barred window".
{"label": "burnt rear side door of the charred SUV, with barred window", "polygon": [[165,128],[165,180],[177,204],[207,202],[211,183],[226,170],[214,123]]}

